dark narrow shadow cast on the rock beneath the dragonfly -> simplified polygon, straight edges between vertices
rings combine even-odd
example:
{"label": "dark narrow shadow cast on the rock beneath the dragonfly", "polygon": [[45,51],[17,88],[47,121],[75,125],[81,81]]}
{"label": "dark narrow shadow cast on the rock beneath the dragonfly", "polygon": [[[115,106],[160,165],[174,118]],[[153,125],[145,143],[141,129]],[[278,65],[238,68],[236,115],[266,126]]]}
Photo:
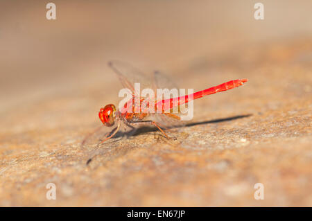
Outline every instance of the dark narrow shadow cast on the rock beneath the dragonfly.
{"label": "dark narrow shadow cast on the rock beneath the dragonfly", "polygon": [[[226,122],[226,121],[234,121],[234,120],[249,117],[249,116],[252,116],[252,114],[237,115],[237,116],[231,116],[231,117],[227,117],[227,118],[218,118],[218,119],[211,120],[211,121],[200,121],[200,122],[188,123],[187,125],[178,125],[174,128],[177,128],[177,127],[193,127],[196,125],[203,125],[203,124],[209,124],[209,123],[221,123],[221,122]],[[139,127],[136,130],[136,132],[134,134],[132,134],[132,136],[137,136],[139,134],[144,134],[146,132],[156,132],[156,131],[158,131],[158,129],[156,127]]]}

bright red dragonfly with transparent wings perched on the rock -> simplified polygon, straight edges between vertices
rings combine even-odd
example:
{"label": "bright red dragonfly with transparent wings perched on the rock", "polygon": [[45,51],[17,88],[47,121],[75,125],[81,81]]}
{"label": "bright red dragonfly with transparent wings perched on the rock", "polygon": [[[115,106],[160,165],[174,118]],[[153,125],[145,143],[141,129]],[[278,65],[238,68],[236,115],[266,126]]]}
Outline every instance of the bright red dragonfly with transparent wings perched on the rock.
{"label": "bright red dragonfly with transparent wings perched on the rock", "polygon": [[[172,83],[172,81],[158,71],[155,71],[153,76],[154,79],[150,80],[148,76],[144,75],[143,73],[141,73],[141,71],[130,66],[130,64],[126,64],[125,62],[109,62],[108,65],[114,71],[114,73],[116,73],[117,77],[121,82],[121,85],[123,85],[124,88],[130,89],[132,93],[132,98],[130,98],[130,100],[128,100],[128,102],[126,102],[121,109],[116,109],[115,105],[112,104],[106,105],[105,107],[101,108],[100,112],[98,112],[98,116],[101,119],[102,123],[106,127],[112,127],[113,125],[116,125],[116,127],[110,132],[103,135],[103,132],[100,131],[103,128],[103,125],[101,125],[101,127],[98,127],[94,132],[89,134],[83,140],[82,144],[89,143],[90,140],[97,142],[99,142],[100,140],[100,143],[97,143],[99,145],[107,141],[108,139],[111,139],[119,131],[122,123],[125,125],[125,130],[127,127],[131,127],[132,132],[135,132],[136,130],[136,128],[133,127],[135,125],[153,125],[157,127],[157,129],[166,138],[169,138],[164,130],[174,125],[185,124],[185,121],[180,121],[180,108],[178,109],[179,113],[177,114],[173,114],[173,108],[180,107],[180,105],[189,103],[191,100],[202,98],[203,96],[207,96],[209,94],[215,94],[220,91],[227,91],[229,89],[233,89],[234,87],[239,87],[248,81],[247,79],[230,80],[221,85],[210,87],[208,89],[198,91],[196,93],[186,96],[179,96],[175,98],[171,97],[162,100],[157,100],[155,98],[152,105],[155,106],[157,112],[152,113],[148,112],[148,110],[146,109],[146,107],[151,105],[150,98],[139,97],[139,103],[135,102],[135,96],[139,94],[139,91],[135,90],[135,83],[139,82],[141,84],[141,88],[177,88]],[[142,106],[144,106],[145,109],[142,109]],[[91,138],[92,136],[95,136],[95,138]],[[99,139],[100,136],[102,136],[102,139]]]}

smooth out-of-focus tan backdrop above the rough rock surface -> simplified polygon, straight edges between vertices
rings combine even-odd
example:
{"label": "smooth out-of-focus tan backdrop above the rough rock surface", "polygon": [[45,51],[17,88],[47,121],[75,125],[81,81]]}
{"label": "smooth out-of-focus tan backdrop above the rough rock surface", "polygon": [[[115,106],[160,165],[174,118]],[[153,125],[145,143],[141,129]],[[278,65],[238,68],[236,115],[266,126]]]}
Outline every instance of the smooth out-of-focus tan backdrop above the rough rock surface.
{"label": "smooth out-of-focus tan backdrop above the rough rock surface", "polygon": [[53,2],[56,20],[46,1],[1,1],[1,107],[86,81],[108,89],[112,59],[192,76],[255,45],[304,44],[312,32],[311,1],[261,1],[264,20],[254,19],[257,1]]}

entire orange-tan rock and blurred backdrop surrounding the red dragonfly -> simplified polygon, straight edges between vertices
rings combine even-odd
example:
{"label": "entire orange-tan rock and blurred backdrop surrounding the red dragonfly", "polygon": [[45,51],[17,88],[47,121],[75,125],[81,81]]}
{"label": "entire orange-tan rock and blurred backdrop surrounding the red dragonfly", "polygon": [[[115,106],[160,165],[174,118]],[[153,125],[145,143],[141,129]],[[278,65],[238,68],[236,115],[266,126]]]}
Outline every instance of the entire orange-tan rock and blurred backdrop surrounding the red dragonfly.
{"label": "entire orange-tan rock and blurred backdrop surrounding the red dragonfly", "polygon": [[[0,3],[1,205],[312,205],[311,1],[55,0],[56,20],[47,3]],[[98,109],[119,100],[114,59],[195,91],[248,78],[198,101],[195,121],[250,117],[188,127],[180,145],[122,141],[87,167],[94,150],[78,143],[101,125]],[[265,202],[252,197],[259,177],[272,193]],[[45,199],[49,182],[59,200]]]}

